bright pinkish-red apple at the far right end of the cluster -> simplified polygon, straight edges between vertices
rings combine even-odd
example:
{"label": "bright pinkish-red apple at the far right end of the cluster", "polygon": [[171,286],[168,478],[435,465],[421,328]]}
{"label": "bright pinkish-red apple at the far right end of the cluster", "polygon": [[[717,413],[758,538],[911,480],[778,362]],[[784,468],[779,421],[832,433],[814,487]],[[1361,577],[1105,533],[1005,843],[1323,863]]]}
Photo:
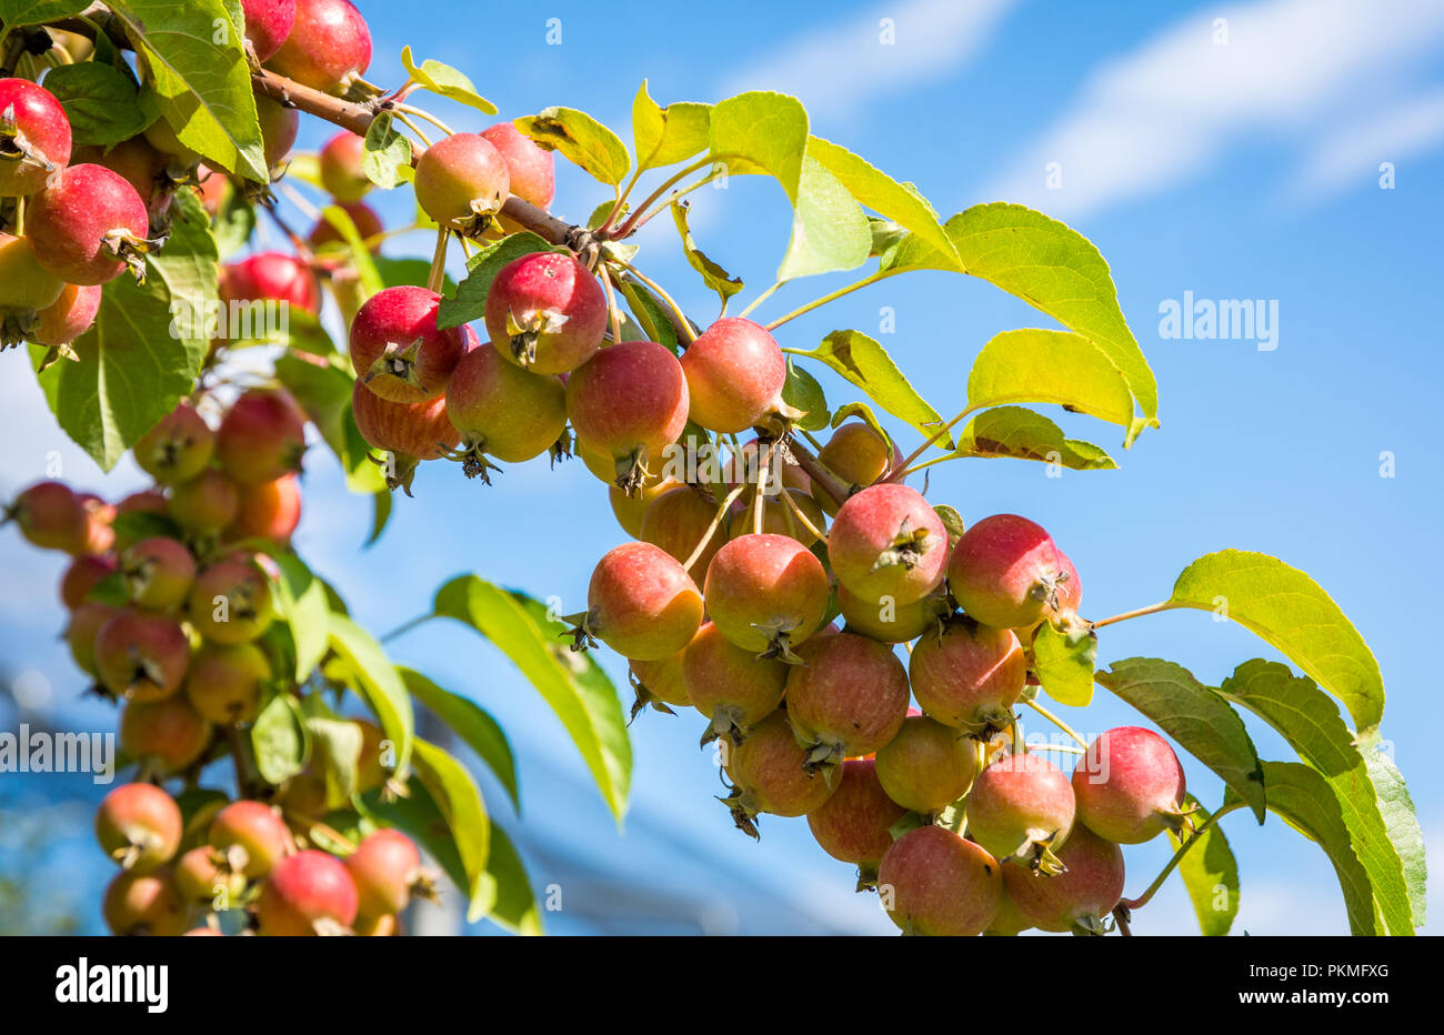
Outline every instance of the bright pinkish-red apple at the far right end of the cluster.
{"label": "bright pinkish-red apple at the far right end of the cluster", "polygon": [[1116,726],[1073,769],[1079,820],[1099,837],[1142,844],[1186,823],[1186,781],[1168,742],[1141,726]]}

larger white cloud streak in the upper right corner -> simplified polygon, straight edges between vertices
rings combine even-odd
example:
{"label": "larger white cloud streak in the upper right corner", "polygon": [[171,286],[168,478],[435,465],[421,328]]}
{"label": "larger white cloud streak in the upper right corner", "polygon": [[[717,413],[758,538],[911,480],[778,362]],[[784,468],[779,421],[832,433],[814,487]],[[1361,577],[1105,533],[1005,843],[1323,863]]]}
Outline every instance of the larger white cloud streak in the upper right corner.
{"label": "larger white cloud streak in the upper right corner", "polygon": [[[1227,42],[1214,42],[1214,19]],[[1204,172],[1246,134],[1308,133],[1444,38],[1434,0],[1268,0],[1190,14],[1100,66],[985,192],[1077,217]],[[1058,163],[1061,189],[1047,189]]]}

